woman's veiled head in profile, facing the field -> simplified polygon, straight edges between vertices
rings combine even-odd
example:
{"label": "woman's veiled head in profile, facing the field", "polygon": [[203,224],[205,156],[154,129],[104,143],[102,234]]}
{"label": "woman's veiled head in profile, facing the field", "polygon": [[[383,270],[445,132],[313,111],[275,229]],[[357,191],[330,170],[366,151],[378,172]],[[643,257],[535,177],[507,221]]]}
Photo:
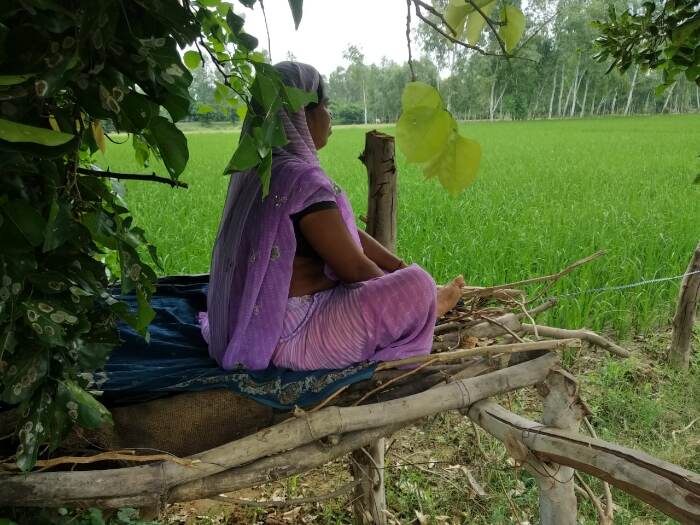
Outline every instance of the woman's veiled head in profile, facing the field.
{"label": "woman's veiled head in profile, facing the field", "polygon": [[312,66],[298,62],[280,62],[275,64],[275,69],[282,75],[284,84],[304,91],[316,92],[318,96],[317,102],[308,104],[304,108],[304,115],[310,135],[309,138],[313,142],[314,149],[321,149],[328,142],[328,137],[332,132],[331,114],[328,111],[328,97],[325,92],[323,77]]}

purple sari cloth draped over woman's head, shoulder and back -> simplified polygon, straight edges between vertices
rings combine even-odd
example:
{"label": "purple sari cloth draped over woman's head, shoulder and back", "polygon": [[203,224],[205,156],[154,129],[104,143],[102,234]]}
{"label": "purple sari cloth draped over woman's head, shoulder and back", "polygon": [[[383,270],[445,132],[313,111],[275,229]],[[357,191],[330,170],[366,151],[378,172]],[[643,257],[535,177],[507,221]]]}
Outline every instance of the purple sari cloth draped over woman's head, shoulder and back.
{"label": "purple sari cloth draped over woman's head, shoulder and back", "polygon": [[[275,69],[286,85],[304,91],[317,92],[322,82],[306,64],[282,62]],[[262,198],[255,170],[233,173],[214,245],[208,343],[209,354],[225,369],[240,364],[259,370],[270,364],[282,332],[296,252],[291,215],[316,202],[334,201],[360,243],[350,203],[320,167],[305,110],[283,110],[281,118],[289,142],[273,150],[269,194]],[[328,268],[326,273],[332,276]]]}

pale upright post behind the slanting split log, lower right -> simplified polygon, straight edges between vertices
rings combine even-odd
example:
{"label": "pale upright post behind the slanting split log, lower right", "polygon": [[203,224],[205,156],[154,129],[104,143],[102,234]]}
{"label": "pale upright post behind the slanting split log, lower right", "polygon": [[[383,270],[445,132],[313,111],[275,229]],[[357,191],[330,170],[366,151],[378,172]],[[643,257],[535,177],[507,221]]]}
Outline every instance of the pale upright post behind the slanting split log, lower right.
{"label": "pale upright post behind the slanting split log, lower right", "polygon": [[[555,370],[540,385],[544,396],[542,421],[548,427],[576,432],[584,415],[578,399],[576,379],[564,370]],[[529,465],[540,489],[542,525],[576,525],[574,469],[554,463]]]}

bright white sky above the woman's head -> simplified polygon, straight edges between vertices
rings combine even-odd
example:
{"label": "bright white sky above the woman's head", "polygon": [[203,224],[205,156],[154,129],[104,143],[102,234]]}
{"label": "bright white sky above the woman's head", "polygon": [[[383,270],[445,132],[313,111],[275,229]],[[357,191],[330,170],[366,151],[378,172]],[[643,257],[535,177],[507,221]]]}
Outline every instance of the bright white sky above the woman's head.
{"label": "bright white sky above the woman's head", "polygon": [[[236,2],[234,8],[238,14],[245,14],[246,31],[259,39],[260,47],[267,48],[260,5],[256,3],[250,10]],[[337,66],[348,65],[343,59],[348,44],[361,49],[366,64],[379,63],[383,56],[398,63],[408,59],[405,0],[304,0],[298,31],[294,30],[287,0],[265,0],[265,11],[272,63],[286,60],[291,52],[297,61],[311,64],[328,76]],[[415,37],[413,40],[412,51],[417,57]]]}

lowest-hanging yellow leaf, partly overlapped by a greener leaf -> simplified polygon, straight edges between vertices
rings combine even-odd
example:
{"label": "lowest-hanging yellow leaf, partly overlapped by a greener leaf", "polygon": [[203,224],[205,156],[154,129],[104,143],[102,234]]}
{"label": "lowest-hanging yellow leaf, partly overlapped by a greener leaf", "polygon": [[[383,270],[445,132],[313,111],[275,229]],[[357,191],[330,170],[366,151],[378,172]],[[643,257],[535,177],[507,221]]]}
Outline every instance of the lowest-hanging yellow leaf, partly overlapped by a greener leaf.
{"label": "lowest-hanging yellow leaf, partly overlapped by a greener leaf", "polygon": [[459,195],[476,179],[481,162],[481,146],[454,133],[445,149],[423,169],[427,177],[437,177],[452,196]]}

